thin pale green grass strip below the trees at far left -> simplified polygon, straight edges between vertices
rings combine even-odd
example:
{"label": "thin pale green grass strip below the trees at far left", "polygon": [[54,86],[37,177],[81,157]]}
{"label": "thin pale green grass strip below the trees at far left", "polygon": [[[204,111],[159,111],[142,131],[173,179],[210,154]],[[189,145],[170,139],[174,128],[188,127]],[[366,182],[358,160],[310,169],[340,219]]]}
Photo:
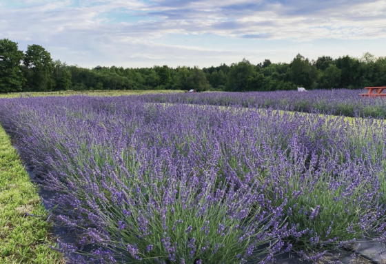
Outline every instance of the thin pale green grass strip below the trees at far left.
{"label": "thin pale green grass strip below the trees at far left", "polygon": [[160,94],[184,92],[182,90],[95,90],[95,91],[59,91],[59,92],[10,92],[0,94],[0,98],[16,97],[65,97],[70,95],[87,95],[91,97],[119,97],[122,95]]}

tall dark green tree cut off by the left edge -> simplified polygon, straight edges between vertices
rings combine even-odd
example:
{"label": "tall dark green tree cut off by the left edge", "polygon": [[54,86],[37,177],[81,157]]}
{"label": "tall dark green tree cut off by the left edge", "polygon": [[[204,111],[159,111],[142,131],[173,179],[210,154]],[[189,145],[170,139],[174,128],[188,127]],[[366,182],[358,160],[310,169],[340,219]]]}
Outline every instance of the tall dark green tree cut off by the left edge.
{"label": "tall dark green tree cut off by the left edge", "polygon": [[26,79],[21,72],[24,54],[17,43],[0,39],[0,92],[20,92]]}

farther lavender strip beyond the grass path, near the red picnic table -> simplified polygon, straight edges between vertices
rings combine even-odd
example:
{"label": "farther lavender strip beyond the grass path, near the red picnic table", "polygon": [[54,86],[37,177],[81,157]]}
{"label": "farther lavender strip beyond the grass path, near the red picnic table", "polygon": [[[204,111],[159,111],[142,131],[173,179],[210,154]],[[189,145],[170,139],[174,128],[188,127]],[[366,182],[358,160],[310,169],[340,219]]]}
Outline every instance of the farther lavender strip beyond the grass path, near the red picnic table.
{"label": "farther lavender strip beyond the grass path, near the red picnic table", "polygon": [[386,100],[363,98],[366,90],[312,90],[307,92],[207,92],[195,94],[153,94],[143,100],[158,103],[194,103],[241,105],[253,108],[274,108],[303,112],[324,112],[345,116],[386,118]]}

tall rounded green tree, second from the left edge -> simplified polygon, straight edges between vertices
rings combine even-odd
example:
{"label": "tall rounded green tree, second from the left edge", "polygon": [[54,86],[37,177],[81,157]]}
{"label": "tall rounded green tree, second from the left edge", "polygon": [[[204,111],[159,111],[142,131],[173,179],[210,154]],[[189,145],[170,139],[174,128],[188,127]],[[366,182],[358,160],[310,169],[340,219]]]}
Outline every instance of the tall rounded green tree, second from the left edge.
{"label": "tall rounded green tree, second from the left edge", "polygon": [[52,90],[54,79],[50,52],[41,45],[28,45],[24,65],[26,66],[28,90],[39,92]]}

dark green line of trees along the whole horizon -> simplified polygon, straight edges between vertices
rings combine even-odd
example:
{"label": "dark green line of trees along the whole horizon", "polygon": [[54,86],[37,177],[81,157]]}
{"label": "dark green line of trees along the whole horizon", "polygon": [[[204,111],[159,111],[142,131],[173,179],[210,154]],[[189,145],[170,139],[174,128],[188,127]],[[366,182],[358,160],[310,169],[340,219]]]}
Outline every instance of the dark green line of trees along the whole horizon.
{"label": "dark green line of trees along the whole horizon", "polygon": [[41,45],[25,52],[9,39],[0,40],[0,92],[49,92],[59,90],[190,90],[274,91],[349,88],[386,85],[386,57],[368,52],[354,57],[319,57],[298,54],[291,63],[265,59],[254,65],[243,59],[217,67],[152,68],[96,66],[93,69],[53,61]]}

